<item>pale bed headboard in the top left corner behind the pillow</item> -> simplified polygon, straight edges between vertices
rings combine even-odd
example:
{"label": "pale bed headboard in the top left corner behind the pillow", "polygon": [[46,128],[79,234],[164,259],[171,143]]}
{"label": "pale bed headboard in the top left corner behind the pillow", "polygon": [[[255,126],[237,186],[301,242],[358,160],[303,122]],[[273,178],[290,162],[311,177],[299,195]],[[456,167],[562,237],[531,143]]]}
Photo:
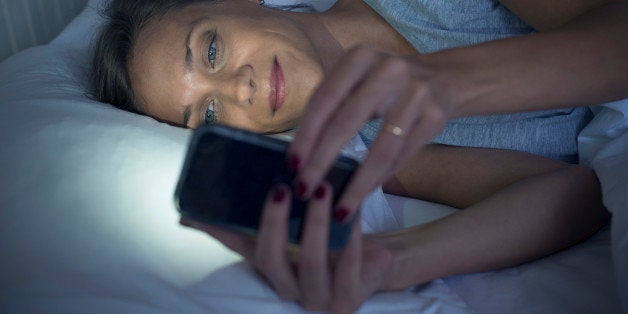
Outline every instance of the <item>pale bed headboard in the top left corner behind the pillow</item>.
{"label": "pale bed headboard in the top left corner behind the pillow", "polygon": [[0,62],[31,46],[47,44],[87,0],[0,0]]}

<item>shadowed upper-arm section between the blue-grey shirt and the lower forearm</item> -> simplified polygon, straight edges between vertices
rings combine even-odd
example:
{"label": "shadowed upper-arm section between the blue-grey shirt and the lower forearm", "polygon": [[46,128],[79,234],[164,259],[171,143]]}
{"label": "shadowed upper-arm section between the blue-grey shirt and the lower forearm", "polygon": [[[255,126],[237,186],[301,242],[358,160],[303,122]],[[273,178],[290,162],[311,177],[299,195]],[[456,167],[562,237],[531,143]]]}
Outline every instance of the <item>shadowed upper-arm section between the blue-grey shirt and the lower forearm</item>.
{"label": "shadowed upper-arm section between the blue-grey shirt and the lower forearm", "polygon": [[514,150],[430,144],[383,188],[390,194],[466,208],[517,181],[575,167]]}

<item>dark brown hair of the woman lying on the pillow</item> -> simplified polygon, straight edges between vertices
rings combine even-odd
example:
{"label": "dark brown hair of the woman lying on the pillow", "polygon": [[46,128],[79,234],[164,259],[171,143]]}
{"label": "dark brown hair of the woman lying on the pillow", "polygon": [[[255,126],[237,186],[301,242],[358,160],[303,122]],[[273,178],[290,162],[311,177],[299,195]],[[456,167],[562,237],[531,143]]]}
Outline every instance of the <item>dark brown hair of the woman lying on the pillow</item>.
{"label": "dark brown hair of the woman lying on the pillow", "polygon": [[[137,103],[128,65],[142,28],[169,11],[197,2],[217,0],[112,0],[103,11],[106,23],[94,47],[91,83],[98,101],[117,108],[141,112]],[[313,11],[309,5],[279,6],[294,11]]]}

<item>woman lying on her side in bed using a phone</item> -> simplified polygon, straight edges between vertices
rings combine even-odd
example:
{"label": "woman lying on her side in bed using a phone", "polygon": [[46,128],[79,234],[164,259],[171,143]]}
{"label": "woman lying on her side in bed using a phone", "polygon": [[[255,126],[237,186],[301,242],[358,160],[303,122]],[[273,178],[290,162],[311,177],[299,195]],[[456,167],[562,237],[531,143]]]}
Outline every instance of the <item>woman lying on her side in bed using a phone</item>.
{"label": "woman lying on her side in bed using a phone", "polygon": [[[496,1],[367,2],[342,0],[322,14],[249,0],[113,3],[94,58],[102,101],[192,128],[283,132],[299,125],[289,159],[299,171],[294,192],[312,200],[298,252],[286,253],[286,186],[269,193],[255,240],[183,224],[242,254],[282,298],[334,312],[355,310],[376,291],[533,260],[605,224],[590,170],[530,154],[573,161],[587,110],[468,118],[438,134],[452,118],[628,96],[625,2],[504,0],[541,32],[480,45],[472,44],[534,31]],[[439,19],[465,26],[478,13],[488,24],[502,22],[463,31],[450,25],[439,34]],[[417,16],[424,20],[409,20]],[[469,36],[441,40],[452,33]],[[456,45],[471,46],[445,49]],[[382,183],[388,192],[465,210],[386,234],[362,236],[358,226],[347,247],[328,257],[333,191],[322,174],[373,118],[383,118],[382,131],[378,122],[361,129],[371,152],[333,219],[352,219]],[[449,145],[422,147],[436,135],[435,143]]]}

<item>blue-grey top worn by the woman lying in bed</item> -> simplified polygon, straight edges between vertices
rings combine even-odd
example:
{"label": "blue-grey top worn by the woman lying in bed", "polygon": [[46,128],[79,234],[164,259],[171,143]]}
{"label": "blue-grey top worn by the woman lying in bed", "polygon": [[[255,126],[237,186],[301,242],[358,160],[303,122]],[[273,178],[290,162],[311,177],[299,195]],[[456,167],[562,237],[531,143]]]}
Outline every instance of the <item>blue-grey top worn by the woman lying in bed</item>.
{"label": "blue-grey top worn by the woman lying in bed", "polygon": [[[364,0],[422,54],[470,46],[535,30],[496,0]],[[588,108],[566,108],[451,120],[434,143],[525,151],[577,162],[577,135],[591,120]],[[380,120],[360,136],[375,139]]]}

